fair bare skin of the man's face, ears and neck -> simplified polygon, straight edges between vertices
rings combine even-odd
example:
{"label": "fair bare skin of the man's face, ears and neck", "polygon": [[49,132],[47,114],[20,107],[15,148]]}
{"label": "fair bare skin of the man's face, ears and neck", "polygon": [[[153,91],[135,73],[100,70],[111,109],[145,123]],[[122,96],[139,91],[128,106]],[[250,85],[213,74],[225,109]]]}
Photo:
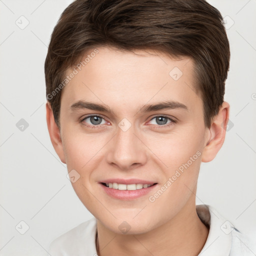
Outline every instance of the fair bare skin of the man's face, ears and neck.
{"label": "fair bare skin of the man's face, ears and neck", "polygon": [[[211,161],[221,148],[229,104],[223,102],[210,128],[206,128],[202,99],[194,90],[196,79],[191,58],[177,60],[149,49],[97,49],[99,52],[62,91],[60,129],[50,104],[46,103],[52,145],[67,170],[79,173],[80,178],[72,186],[97,219],[97,253],[197,255],[208,235],[195,210],[200,162]],[[183,73],[176,81],[169,75],[174,67]],[[78,100],[106,104],[113,113],[87,108],[72,111],[70,106]],[[178,101],[187,109],[138,111],[145,104],[165,100]],[[100,124],[93,124],[90,118],[79,122],[89,114],[103,117]],[[161,115],[176,122],[167,126],[171,122],[167,119],[166,124],[161,124],[154,118]],[[123,118],[131,124],[126,131],[118,126]],[[198,158],[150,202],[148,197],[197,151]],[[98,182],[107,178],[140,178],[157,184],[149,194],[120,200],[100,187]],[[123,221],[130,226],[125,234],[118,228]]]}

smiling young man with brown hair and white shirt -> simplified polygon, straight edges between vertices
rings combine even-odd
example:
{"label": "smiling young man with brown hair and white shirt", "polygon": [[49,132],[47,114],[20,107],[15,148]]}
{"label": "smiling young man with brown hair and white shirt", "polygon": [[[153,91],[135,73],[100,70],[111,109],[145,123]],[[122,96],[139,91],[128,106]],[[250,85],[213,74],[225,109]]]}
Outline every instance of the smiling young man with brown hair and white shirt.
{"label": "smiling young man with brown hair and white shirt", "polygon": [[52,145],[95,218],[50,255],[250,255],[195,205],[200,163],[221,148],[229,43],[204,0],[75,0],[45,60]]}

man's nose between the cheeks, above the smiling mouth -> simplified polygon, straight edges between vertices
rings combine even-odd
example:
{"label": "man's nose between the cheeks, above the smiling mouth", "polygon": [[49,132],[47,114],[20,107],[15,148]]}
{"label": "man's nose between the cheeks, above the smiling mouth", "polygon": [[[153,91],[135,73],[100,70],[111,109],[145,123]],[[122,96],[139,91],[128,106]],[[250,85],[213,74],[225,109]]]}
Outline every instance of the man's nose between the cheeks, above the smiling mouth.
{"label": "man's nose between the cheeks, above the smiling mouth", "polygon": [[117,127],[116,135],[109,142],[106,155],[109,164],[121,170],[130,170],[145,164],[147,147],[141,135],[135,133],[133,125],[126,131]]}

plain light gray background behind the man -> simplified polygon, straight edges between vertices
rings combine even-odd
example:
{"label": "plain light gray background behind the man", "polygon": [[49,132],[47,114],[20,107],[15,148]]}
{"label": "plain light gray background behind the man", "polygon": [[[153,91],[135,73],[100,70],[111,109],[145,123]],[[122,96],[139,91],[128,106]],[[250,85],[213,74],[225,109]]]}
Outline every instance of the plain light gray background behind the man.
{"label": "plain light gray background behind the man", "polygon": [[[92,217],[66,177],[45,120],[44,59],[70,2],[0,0],[0,255],[45,255],[53,238]],[[196,203],[212,205],[256,240],[256,0],[209,2],[230,17],[225,100],[233,126],[215,159],[201,164]],[[29,21],[24,29],[15,23],[25,24],[21,15]],[[16,127],[21,118],[29,124],[23,131]],[[21,220],[29,226],[24,234],[17,231],[24,231]]]}

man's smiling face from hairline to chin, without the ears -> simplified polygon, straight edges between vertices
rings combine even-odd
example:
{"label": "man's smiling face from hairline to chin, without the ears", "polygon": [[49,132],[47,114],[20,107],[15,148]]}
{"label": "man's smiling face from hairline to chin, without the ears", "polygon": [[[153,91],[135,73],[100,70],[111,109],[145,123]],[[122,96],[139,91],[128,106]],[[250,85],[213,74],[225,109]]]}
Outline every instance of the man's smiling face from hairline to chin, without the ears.
{"label": "man's smiling face from hairline to chin, without the ears", "polygon": [[97,49],[62,91],[64,162],[78,178],[76,194],[105,227],[120,233],[126,221],[130,233],[146,232],[194,197],[208,129],[193,61]]}

